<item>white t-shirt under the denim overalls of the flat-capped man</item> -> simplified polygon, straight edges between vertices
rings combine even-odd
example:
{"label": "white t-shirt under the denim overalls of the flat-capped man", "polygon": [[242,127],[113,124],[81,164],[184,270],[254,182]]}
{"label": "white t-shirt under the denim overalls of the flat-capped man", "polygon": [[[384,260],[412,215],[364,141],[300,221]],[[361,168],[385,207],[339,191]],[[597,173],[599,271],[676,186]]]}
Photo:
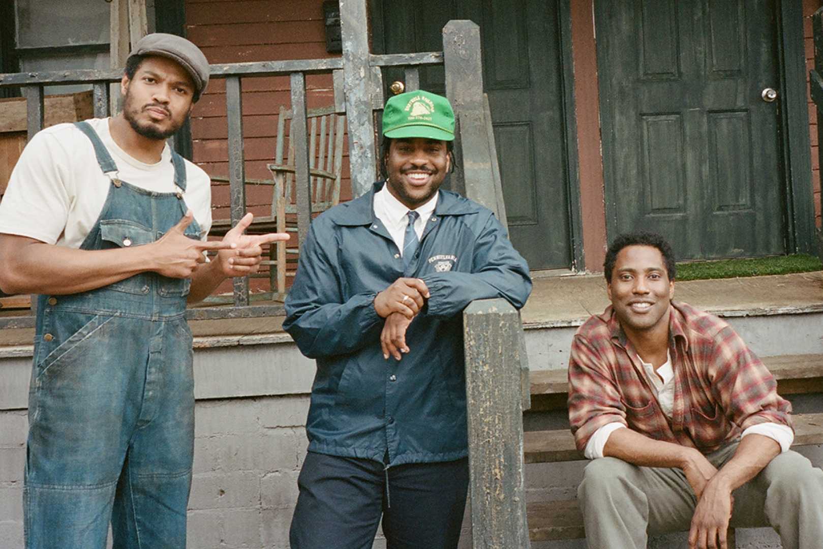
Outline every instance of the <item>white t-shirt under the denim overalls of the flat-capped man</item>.
{"label": "white t-shirt under the denim overalls of the flat-capped man", "polygon": [[[156,193],[174,193],[174,165],[168,145],[160,161],[146,164],[114,143],[109,119],[87,120],[117,164],[118,178]],[[184,201],[205,240],[212,226],[212,187],[208,174],[185,161]],[[86,134],[70,123],[46,128],[26,145],[0,202],[0,233],[21,235],[80,248],[103,210],[111,180],[97,163]]]}

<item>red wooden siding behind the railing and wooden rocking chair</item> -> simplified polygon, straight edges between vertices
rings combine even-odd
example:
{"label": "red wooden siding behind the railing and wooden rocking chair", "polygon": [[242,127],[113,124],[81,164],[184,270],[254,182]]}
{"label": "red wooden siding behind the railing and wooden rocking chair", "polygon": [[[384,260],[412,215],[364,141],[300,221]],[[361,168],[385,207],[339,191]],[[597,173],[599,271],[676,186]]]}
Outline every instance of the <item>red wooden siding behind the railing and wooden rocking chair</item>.
{"label": "red wooden siding behind the railing and wooden rocking chair", "polygon": [[[210,63],[328,58],[323,26],[323,0],[186,0],[186,33]],[[331,75],[306,78],[309,109],[332,105]],[[288,77],[244,78],[243,133],[246,177],[268,179],[266,164],[274,159],[277,112],[291,105]],[[226,84],[209,83],[192,112],[193,159],[207,173],[228,174]],[[348,156],[344,151],[342,198],[351,197]],[[249,205],[271,203],[266,188],[247,188]],[[228,187],[218,185],[213,198],[216,217],[227,217]]]}

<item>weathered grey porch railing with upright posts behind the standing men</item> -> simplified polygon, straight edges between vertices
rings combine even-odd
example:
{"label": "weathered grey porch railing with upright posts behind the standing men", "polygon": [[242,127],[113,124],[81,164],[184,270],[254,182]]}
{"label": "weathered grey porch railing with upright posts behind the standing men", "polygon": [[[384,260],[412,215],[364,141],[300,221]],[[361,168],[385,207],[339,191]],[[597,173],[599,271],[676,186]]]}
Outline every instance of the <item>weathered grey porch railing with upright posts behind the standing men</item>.
{"label": "weathered grey porch railing with upright posts behind the standing men", "polygon": [[[360,3],[360,2],[355,2]],[[306,132],[306,86],[309,74],[331,73],[337,112],[346,112],[349,131],[351,184],[355,195],[365,193],[375,176],[376,147],[374,113],[383,108],[382,67],[404,67],[406,90],[418,89],[419,67],[443,65],[446,94],[458,113],[458,139],[455,153],[462,171],[454,174],[455,190],[491,207],[505,223],[500,193],[499,170],[493,137],[487,128],[482,94],[480,30],[471,21],[450,21],[444,28],[444,51],[420,54],[368,54],[365,14],[361,18],[342,19],[343,57],[256,63],[226,63],[211,66],[211,77],[226,80],[226,119],[228,125],[230,216],[232,225],[246,212],[245,159],[243,142],[243,81],[257,77],[290,77],[291,107],[294,111],[291,142],[295,143],[295,180],[297,235],[305,240],[311,222],[309,188],[309,139]],[[354,44],[356,42],[356,44]],[[360,49],[365,44],[365,56]],[[354,45],[353,45],[354,44]],[[356,46],[356,47],[355,47]],[[362,69],[362,70],[361,70]],[[362,75],[367,77],[362,77]],[[122,70],[67,70],[54,72],[19,72],[0,74],[0,88],[18,87],[27,100],[28,137],[43,128],[44,86],[91,84],[94,114],[109,113],[109,84],[120,81]],[[471,161],[466,161],[471,159]],[[493,169],[494,168],[494,169]],[[495,175],[496,174],[496,175]],[[470,182],[467,184],[466,182]],[[495,191],[496,189],[496,191]],[[189,309],[189,319],[221,319],[272,316],[283,314],[282,305],[250,305],[249,279],[235,278],[234,305]],[[30,328],[31,316],[0,319],[0,328]]]}

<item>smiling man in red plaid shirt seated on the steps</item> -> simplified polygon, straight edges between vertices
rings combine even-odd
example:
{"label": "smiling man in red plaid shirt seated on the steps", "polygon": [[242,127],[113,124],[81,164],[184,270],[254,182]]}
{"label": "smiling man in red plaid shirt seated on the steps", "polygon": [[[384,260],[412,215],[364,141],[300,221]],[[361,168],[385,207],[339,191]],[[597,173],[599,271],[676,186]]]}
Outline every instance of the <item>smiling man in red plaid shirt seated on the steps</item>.
{"label": "smiling man in red plaid shirt seated on the steps", "polygon": [[579,328],[569,365],[571,429],[593,459],[578,490],[588,547],[689,529],[689,547],[727,549],[730,523],[821,547],[823,471],[788,449],[792,408],[769,370],[728,323],[672,302],[659,235],[621,235],[604,270],[611,305]]}

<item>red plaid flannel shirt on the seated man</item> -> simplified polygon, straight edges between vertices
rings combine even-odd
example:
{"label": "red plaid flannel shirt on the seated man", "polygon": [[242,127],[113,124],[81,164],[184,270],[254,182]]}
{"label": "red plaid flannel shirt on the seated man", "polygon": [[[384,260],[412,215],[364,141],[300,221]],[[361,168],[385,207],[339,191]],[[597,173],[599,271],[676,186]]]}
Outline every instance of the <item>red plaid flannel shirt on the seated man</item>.
{"label": "red plaid flannel shirt on the seated man", "polygon": [[611,305],[593,315],[571,345],[569,419],[583,450],[600,427],[613,421],[649,438],[709,454],[747,427],[773,422],[792,426],[792,406],[760,359],[722,319],[672,302],[669,353],[674,370],[674,409],[663,413],[637,353]]}

